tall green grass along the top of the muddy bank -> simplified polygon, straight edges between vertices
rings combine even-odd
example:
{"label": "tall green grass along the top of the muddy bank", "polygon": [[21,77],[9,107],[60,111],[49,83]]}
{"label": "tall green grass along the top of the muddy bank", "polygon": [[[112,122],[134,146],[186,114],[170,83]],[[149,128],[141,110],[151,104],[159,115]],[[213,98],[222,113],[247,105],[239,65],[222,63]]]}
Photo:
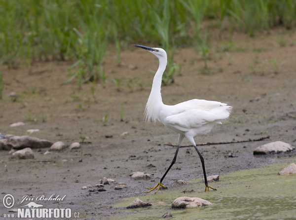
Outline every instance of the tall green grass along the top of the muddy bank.
{"label": "tall green grass along the top of the muddy bank", "polygon": [[296,0],[0,0],[0,63],[71,59],[69,81],[104,83],[108,45],[115,45],[120,65],[120,51],[141,43],[165,48],[170,71],[175,48],[195,46],[209,19],[221,32],[249,36],[279,25],[291,29]]}

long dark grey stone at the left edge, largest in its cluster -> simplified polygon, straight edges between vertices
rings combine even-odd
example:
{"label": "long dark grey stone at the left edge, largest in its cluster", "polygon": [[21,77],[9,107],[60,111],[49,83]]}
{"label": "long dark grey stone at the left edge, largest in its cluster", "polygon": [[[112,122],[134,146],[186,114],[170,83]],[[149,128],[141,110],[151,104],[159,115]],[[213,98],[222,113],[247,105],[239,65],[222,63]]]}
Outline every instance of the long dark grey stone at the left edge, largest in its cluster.
{"label": "long dark grey stone at the left edge, largest in its cluster", "polygon": [[30,136],[12,136],[8,139],[0,139],[0,150],[24,149],[30,147],[32,149],[50,147],[52,142],[38,139]]}

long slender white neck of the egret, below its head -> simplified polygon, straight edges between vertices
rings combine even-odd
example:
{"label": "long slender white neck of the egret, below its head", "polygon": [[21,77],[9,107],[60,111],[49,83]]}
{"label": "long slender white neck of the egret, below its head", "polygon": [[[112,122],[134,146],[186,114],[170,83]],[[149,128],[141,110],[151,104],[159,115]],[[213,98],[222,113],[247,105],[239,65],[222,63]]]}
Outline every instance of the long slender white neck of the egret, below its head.
{"label": "long slender white neck of the egret, below its head", "polygon": [[153,123],[159,120],[159,111],[163,106],[160,90],[162,74],[165,71],[166,64],[166,59],[159,59],[159,67],[154,75],[151,92],[148,98],[148,102],[146,104],[146,121],[152,121]]}

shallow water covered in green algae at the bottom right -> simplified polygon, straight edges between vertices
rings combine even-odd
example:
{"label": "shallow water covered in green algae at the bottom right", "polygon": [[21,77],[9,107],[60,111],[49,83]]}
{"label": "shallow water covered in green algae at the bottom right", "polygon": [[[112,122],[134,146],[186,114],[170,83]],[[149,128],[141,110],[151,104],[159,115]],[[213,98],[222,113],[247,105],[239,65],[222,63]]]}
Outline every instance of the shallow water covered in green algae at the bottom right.
{"label": "shallow water covered in green algae at the bottom right", "polygon": [[[135,197],[117,204],[123,219],[161,219],[170,211],[173,218],[192,219],[294,219],[296,218],[296,175],[277,175],[287,164],[269,165],[220,176],[220,181],[210,185],[217,191],[204,192],[199,180],[184,187],[161,190],[157,194],[139,197],[144,202],[165,202],[148,208],[126,209]],[[184,192],[185,191],[185,192]],[[180,196],[199,197],[212,206],[174,210],[172,202]],[[118,218],[118,216],[117,216]],[[116,219],[117,219],[116,218]]]}

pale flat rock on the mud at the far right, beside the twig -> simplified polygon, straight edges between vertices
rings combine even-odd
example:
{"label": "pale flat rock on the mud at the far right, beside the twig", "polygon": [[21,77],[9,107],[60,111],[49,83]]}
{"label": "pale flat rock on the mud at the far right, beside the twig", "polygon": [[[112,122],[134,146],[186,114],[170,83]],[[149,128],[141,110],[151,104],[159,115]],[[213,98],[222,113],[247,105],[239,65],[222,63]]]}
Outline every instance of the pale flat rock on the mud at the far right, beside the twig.
{"label": "pale flat rock on the mud at the far right, beside the twig", "polygon": [[295,147],[291,146],[288,143],[276,141],[276,142],[271,142],[266,145],[257,147],[253,153],[254,154],[282,153],[282,152],[287,152],[294,149]]}

